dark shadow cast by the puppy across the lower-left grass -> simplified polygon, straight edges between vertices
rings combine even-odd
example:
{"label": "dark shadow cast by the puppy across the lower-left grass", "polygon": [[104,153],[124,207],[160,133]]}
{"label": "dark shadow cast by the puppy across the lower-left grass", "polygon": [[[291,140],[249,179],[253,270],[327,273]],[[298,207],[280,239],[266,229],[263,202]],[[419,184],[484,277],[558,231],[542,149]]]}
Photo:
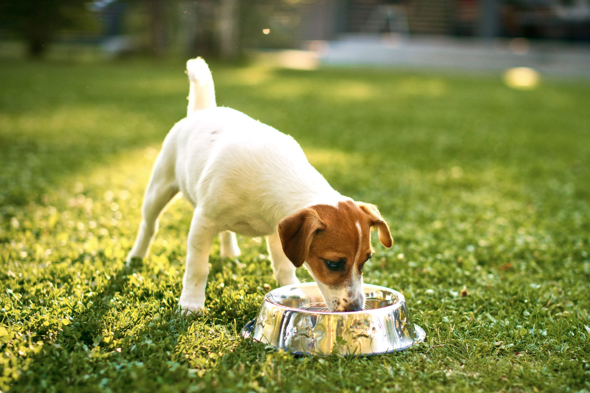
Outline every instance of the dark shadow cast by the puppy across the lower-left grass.
{"label": "dark shadow cast by the puppy across the lower-left grass", "polygon": [[[37,354],[28,359],[27,367],[22,369],[19,377],[15,379],[12,389],[28,391],[36,386],[40,389],[52,388],[60,391],[80,387],[84,385],[82,382],[84,375],[100,374],[96,367],[126,363],[125,366],[131,369],[134,364],[148,358],[150,352],[161,351],[161,348],[151,348],[149,344],[142,346],[145,342],[137,342],[133,345],[127,331],[117,332],[120,336],[115,334],[111,339],[106,339],[109,337],[106,335],[109,331],[106,320],[110,313],[119,313],[116,306],[113,306],[113,298],[117,296],[117,293],[129,290],[130,277],[143,267],[145,266],[142,261],[136,260],[130,266],[123,265],[116,270],[101,290],[87,299],[86,304],[89,306],[83,312],[71,313],[71,325],[63,326],[58,330],[55,327],[44,329],[44,326],[35,329],[38,335],[45,338],[45,343]],[[149,310],[143,312],[137,310],[136,317],[141,320],[152,318],[152,325],[156,325],[161,318],[160,325],[168,327],[166,334],[175,338],[183,335],[191,326],[191,322],[196,319],[196,316],[176,313],[176,309],[170,309],[168,315],[158,316],[157,320],[150,314],[152,313]],[[165,317],[174,319],[164,322]],[[139,325],[139,322],[136,324]],[[133,330],[133,326],[129,326],[129,330]],[[150,337],[149,332],[142,333]],[[116,345],[113,345],[115,342]],[[173,345],[175,343],[170,342],[169,349],[172,349]],[[94,361],[88,362],[89,358]],[[121,367],[119,366],[117,371],[120,371]],[[96,375],[93,376],[96,378]],[[96,383],[96,381],[93,382]]]}

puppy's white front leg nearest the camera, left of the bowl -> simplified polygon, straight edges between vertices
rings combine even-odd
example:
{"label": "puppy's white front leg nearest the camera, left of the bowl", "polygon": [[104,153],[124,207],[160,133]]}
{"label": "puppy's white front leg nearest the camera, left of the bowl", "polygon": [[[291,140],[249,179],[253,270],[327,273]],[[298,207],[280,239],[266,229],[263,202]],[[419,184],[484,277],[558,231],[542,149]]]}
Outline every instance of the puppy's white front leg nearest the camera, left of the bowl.
{"label": "puppy's white front leg nearest the camera, left of the bowl", "polygon": [[186,249],[186,270],[182,280],[182,293],[178,302],[183,310],[198,312],[205,303],[205,287],[209,275],[209,251],[217,231],[199,209],[191,221]]}

